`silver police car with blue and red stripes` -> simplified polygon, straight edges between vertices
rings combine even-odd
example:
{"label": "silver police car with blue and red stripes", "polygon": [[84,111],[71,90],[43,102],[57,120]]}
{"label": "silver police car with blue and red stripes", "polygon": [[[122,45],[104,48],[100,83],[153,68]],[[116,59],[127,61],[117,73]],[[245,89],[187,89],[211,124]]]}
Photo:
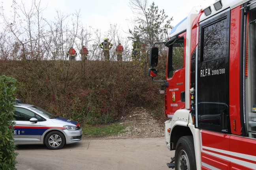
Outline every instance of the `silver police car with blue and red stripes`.
{"label": "silver police car with blue and red stripes", "polygon": [[16,103],[13,137],[16,144],[45,144],[51,150],[82,139],[80,125],[55,116],[40,107]]}

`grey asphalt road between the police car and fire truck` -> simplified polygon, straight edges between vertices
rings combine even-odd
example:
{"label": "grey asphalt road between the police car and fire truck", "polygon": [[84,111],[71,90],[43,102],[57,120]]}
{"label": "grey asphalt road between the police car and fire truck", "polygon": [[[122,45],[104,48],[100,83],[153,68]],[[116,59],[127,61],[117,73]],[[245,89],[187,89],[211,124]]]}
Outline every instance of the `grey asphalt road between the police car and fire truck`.
{"label": "grey asphalt road between the police car and fire truck", "polygon": [[17,152],[18,170],[168,170],[174,157],[163,137],[83,139],[61,150],[20,145]]}

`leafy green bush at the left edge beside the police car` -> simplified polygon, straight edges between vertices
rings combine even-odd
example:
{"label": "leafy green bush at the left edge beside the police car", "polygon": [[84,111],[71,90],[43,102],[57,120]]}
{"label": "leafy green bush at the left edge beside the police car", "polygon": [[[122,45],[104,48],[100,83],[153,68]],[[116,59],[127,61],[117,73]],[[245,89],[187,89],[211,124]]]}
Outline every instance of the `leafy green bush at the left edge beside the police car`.
{"label": "leafy green bush at the left edge beside the police car", "polygon": [[3,170],[15,170],[16,145],[13,140],[13,111],[15,110],[14,93],[16,92],[16,80],[6,76],[0,76],[0,168]]}

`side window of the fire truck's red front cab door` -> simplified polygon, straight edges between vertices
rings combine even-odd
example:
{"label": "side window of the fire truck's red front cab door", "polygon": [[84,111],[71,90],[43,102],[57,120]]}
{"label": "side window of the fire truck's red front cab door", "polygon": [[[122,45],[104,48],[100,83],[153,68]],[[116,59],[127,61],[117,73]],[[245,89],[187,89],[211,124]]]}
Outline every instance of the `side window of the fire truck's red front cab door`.
{"label": "side window of the fire truck's red front cab door", "polygon": [[177,40],[169,47],[168,78],[171,78],[176,70],[183,68],[184,38]]}

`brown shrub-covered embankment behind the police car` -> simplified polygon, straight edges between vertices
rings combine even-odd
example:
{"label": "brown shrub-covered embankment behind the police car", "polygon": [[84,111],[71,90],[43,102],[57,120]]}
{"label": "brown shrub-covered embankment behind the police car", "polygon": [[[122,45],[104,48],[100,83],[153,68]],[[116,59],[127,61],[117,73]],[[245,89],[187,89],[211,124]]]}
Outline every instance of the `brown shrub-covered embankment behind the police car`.
{"label": "brown shrub-covered embankment behind the police car", "polygon": [[[145,65],[116,61],[0,61],[18,80],[17,98],[81,123],[114,122],[129,107],[164,107]],[[162,109],[161,109],[162,113]]]}

